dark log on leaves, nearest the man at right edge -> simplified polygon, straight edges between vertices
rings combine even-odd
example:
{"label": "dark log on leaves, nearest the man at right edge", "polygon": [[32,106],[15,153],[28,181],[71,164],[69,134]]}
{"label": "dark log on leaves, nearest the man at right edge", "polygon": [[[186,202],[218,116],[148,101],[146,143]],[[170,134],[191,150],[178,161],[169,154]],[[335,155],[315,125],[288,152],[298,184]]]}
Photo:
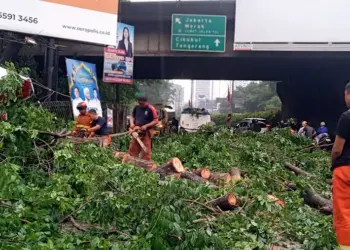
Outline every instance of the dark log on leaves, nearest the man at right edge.
{"label": "dark log on leaves, nearest the man at right edge", "polygon": [[321,195],[313,192],[311,189],[305,189],[301,196],[304,198],[305,204],[310,207],[317,208],[325,214],[333,213],[333,204],[331,200],[323,198]]}

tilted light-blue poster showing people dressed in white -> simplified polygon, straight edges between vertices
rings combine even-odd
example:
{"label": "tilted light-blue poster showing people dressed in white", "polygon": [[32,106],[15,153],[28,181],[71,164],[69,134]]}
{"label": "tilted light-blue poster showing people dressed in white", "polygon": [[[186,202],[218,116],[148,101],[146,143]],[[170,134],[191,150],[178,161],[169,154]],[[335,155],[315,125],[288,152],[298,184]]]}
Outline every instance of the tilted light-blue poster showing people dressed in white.
{"label": "tilted light-blue poster showing people dressed in white", "polygon": [[85,102],[88,110],[95,109],[97,114],[102,116],[101,96],[96,78],[96,65],[66,58],[66,66],[74,118],[79,115],[77,105],[80,102]]}

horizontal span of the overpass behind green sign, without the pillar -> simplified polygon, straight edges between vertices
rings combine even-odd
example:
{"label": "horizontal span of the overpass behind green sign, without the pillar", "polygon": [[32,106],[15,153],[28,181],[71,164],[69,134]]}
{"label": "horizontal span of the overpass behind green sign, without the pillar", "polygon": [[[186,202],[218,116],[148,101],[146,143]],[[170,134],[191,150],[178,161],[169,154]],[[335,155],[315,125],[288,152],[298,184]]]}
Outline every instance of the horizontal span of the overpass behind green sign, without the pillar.
{"label": "horizontal span of the overpass behind green sign, without the pillar", "polygon": [[[225,53],[171,51],[172,14],[225,15]],[[136,79],[284,80],[325,76],[349,69],[348,52],[233,51],[235,1],[123,2],[120,22],[135,26]],[[62,56],[78,56],[102,67],[103,47],[59,42]]]}

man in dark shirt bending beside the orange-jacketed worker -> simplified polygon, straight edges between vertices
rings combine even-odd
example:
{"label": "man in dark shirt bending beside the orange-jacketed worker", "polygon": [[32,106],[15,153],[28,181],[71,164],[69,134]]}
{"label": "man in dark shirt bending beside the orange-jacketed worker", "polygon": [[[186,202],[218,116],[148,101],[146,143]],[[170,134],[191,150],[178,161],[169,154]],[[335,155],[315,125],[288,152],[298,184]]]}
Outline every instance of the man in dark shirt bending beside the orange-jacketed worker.
{"label": "man in dark shirt bending beside the orange-jacketed worker", "polygon": [[90,137],[96,135],[100,141],[100,147],[107,147],[109,144],[111,144],[107,120],[101,116],[98,116],[96,110],[94,109],[89,110],[88,114],[92,120],[91,128],[88,130],[88,132],[90,132]]}

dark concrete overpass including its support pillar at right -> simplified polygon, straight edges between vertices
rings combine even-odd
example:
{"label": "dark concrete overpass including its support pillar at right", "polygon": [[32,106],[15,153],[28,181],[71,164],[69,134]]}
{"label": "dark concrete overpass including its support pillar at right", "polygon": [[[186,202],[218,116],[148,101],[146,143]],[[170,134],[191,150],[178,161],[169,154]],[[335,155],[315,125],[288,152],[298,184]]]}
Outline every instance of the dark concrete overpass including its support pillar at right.
{"label": "dark concrete overpass including its support pillar at right", "polygon": [[[120,22],[135,26],[135,79],[278,80],[286,116],[336,120],[345,107],[349,52],[233,51],[235,1],[123,2]],[[226,51],[171,51],[172,14],[225,15]],[[60,41],[65,56],[95,62],[102,72],[103,47]]]}

